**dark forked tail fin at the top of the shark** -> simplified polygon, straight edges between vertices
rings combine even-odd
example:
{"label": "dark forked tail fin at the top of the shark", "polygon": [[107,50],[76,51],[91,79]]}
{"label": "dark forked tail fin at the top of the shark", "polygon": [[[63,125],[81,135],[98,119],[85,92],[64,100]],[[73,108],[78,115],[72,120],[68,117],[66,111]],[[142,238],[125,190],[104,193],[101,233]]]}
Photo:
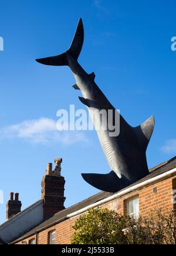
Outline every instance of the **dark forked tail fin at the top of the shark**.
{"label": "dark forked tail fin at the top of the shark", "polygon": [[82,22],[82,19],[79,19],[72,44],[70,45],[70,48],[66,52],[64,52],[63,54],[48,57],[48,58],[36,59],[36,61],[44,65],[67,66],[69,65],[69,63],[67,61],[66,53],[71,55],[72,58],[77,61],[80,55],[80,52],[82,51],[83,42],[84,42],[83,22]]}

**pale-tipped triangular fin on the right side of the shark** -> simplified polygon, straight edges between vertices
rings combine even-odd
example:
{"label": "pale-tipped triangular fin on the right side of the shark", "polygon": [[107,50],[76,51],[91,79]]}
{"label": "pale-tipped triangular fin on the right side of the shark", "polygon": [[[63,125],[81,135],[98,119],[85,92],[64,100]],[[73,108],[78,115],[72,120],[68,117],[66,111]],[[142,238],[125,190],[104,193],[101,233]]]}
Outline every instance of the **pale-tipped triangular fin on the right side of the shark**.
{"label": "pale-tipped triangular fin on the right side of the shark", "polygon": [[141,149],[146,150],[148,143],[150,141],[151,135],[153,134],[155,126],[154,116],[152,115],[148,118],[143,124],[139,125],[138,127],[134,128],[136,132],[138,142],[141,145]]}

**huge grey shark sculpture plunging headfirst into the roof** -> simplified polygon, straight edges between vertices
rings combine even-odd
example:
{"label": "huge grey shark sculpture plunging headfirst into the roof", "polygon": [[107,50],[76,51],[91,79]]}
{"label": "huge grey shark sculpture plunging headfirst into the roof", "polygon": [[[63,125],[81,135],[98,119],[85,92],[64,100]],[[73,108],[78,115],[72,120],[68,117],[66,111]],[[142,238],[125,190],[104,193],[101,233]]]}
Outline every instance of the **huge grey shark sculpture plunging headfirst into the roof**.
{"label": "huge grey shark sculpture plunging headfirst into the roof", "polygon": [[[105,109],[107,112],[113,111],[112,117],[113,123],[115,123],[116,109],[96,85],[94,72],[87,74],[77,61],[83,41],[83,22],[82,19],[79,19],[76,34],[66,52],[57,56],[36,59],[36,61],[45,65],[69,66],[76,79],[73,88],[82,92],[83,97],[79,97],[79,99],[89,109],[95,127],[96,120],[100,119],[98,113],[101,109]],[[99,111],[94,111],[95,109]],[[107,120],[108,118],[106,122]],[[109,128],[96,129],[111,171],[108,174],[82,174],[84,180],[89,184],[107,192],[117,192],[149,174],[145,152],[153,133],[154,117],[151,116],[138,127],[131,127],[121,115],[119,121],[120,133],[117,136],[110,136]],[[102,124],[104,120],[101,118],[99,122]]]}

